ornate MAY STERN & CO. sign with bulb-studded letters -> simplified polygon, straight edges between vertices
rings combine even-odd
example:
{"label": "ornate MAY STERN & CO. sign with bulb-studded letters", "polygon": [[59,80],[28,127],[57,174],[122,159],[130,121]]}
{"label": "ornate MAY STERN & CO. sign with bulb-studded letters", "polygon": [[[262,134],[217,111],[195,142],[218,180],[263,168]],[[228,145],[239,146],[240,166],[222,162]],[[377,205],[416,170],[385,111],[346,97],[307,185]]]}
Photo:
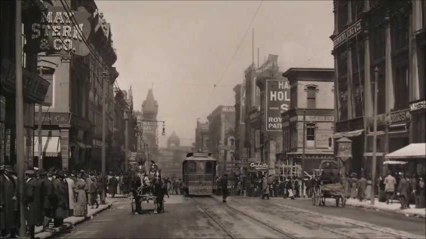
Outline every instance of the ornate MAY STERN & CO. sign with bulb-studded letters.
{"label": "ornate MAY STERN & CO. sign with bulb-studded letters", "polygon": [[[46,11],[31,14],[32,24],[25,29],[27,44],[25,52],[67,55],[69,52],[86,56],[89,48],[84,42],[88,39],[91,26],[88,18],[91,14],[82,6],[77,11],[68,12],[61,6],[51,6],[43,2]],[[84,36],[84,37],[82,37]]]}

